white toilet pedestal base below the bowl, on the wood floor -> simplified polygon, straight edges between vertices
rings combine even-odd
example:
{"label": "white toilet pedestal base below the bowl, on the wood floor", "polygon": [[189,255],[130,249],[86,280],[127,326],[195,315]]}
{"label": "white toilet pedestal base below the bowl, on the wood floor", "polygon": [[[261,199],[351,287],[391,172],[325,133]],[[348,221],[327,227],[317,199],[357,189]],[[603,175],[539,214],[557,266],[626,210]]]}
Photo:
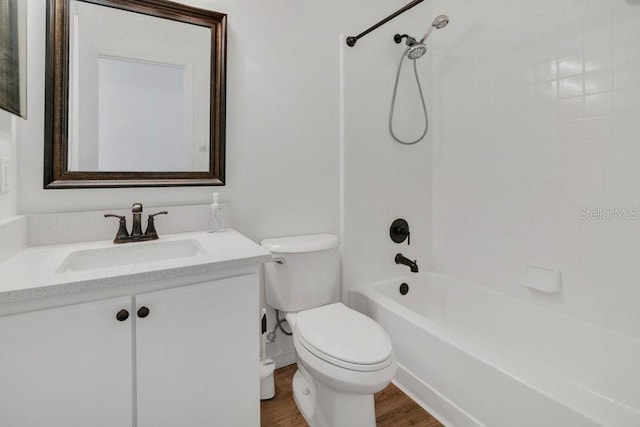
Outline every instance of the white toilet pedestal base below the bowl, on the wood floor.
{"label": "white toilet pedestal base below the bowl, on the wood floor", "polygon": [[298,365],[293,376],[293,398],[311,427],[375,427],[373,394],[351,394],[332,390],[314,381]]}

